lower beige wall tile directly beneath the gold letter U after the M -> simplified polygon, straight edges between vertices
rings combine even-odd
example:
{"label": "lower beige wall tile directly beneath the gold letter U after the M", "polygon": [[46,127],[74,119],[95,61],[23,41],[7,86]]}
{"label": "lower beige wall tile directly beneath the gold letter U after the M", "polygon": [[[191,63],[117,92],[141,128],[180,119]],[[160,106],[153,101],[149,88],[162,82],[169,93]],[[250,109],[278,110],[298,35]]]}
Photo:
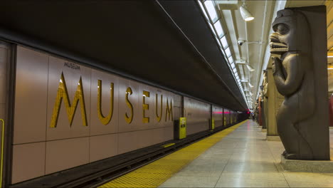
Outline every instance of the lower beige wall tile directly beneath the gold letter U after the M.
{"label": "lower beige wall tile directly beneath the gold letter U after the M", "polygon": [[90,162],[117,155],[118,135],[98,135],[90,137]]}

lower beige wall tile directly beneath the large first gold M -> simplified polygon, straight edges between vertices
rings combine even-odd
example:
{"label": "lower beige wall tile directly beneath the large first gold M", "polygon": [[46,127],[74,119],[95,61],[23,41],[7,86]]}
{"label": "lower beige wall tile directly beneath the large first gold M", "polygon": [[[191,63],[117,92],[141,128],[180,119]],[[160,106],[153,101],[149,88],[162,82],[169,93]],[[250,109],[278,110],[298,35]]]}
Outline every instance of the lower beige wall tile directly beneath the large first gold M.
{"label": "lower beige wall tile directly beneath the large first gold M", "polygon": [[89,137],[46,142],[46,174],[89,162]]}

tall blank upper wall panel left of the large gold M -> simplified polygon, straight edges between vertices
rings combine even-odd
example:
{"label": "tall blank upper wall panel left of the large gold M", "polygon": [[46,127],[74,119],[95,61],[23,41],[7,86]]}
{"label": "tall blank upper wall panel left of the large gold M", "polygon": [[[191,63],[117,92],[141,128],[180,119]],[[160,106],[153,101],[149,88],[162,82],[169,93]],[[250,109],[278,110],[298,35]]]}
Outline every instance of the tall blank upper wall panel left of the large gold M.
{"label": "tall blank upper wall panel left of the large gold M", "polygon": [[17,47],[14,144],[46,140],[48,55]]}

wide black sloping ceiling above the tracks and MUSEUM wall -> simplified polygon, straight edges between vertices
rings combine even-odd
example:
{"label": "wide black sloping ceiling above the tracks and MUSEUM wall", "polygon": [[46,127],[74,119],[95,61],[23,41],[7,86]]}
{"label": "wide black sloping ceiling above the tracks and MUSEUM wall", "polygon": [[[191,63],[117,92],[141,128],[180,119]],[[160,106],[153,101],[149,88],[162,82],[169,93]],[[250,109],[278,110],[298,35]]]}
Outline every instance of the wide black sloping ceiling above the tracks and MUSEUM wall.
{"label": "wide black sloping ceiling above the tracks and MUSEUM wall", "polygon": [[[88,59],[94,63],[84,63],[134,75],[226,108],[245,110],[230,71],[221,72],[225,66],[211,63],[220,75],[226,74],[223,79],[228,85],[224,85],[156,1],[1,1],[0,6],[1,38],[59,51],[67,58]],[[183,7],[171,9],[180,11]],[[189,14],[199,14],[196,12]],[[192,24],[203,23],[200,16],[195,19],[201,20],[192,18]],[[208,34],[201,33],[200,37],[209,38]],[[195,33],[189,36],[192,40]],[[211,58],[223,59],[217,55]]]}

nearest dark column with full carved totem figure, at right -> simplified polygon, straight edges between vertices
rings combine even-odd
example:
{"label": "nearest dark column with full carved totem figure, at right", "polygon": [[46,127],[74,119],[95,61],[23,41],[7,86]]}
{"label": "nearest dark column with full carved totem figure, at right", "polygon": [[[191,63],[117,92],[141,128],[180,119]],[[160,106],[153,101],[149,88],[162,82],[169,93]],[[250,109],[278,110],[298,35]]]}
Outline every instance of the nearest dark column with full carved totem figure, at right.
{"label": "nearest dark column with full carved totem figure, at right", "polygon": [[273,30],[273,75],[285,96],[277,113],[282,155],[291,160],[329,160],[326,7],[277,11]]}

